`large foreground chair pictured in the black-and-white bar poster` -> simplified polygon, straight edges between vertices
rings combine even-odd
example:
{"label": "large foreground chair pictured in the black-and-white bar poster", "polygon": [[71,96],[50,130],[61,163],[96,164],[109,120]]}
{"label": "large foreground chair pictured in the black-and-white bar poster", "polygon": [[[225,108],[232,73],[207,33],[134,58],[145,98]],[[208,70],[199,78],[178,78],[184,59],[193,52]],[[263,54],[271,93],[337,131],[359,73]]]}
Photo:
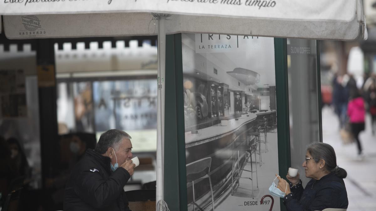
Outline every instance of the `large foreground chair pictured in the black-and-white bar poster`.
{"label": "large foreground chair pictured in the black-and-white bar poster", "polygon": [[192,192],[193,192],[193,210],[196,211],[197,206],[199,209],[199,205],[196,203],[196,199],[194,197],[194,182],[197,179],[202,178],[209,178],[209,186],[210,186],[210,194],[211,194],[211,200],[212,200],[212,207],[214,211],[214,196],[213,196],[213,188],[210,178],[210,166],[211,166],[211,157],[202,158],[200,160],[196,160],[192,163],[186,164],[186,176],[187,176],[187,184],[192,182]]}

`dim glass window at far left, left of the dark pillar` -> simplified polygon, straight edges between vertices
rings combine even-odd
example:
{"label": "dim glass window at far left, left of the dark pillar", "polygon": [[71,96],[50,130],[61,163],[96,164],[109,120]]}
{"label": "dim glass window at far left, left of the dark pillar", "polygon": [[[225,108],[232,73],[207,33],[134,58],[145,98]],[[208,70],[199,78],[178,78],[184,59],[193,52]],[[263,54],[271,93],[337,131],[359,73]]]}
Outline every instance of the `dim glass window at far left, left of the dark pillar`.
{"label": "dim glass window at far left, left of the dark pillar", "polygon": [[[30,44],[18,45],[22,51],[15,44],[3,51],[0,45],[0,136],[8,141],[15,160],[26,158],[26,163],[12,166],[20,169],[18,176],[26,176],[28,188],[39,189],[42,165],[36,52]],[[2,148],[5,153],[3,150],[6,148]]]}

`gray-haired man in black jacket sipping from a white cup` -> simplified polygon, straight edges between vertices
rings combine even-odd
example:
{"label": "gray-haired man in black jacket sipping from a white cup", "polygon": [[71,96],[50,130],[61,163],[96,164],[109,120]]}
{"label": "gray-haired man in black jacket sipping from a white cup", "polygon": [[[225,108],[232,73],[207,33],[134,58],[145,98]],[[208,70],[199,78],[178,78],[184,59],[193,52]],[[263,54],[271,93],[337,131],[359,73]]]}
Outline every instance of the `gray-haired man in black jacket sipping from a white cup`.
{"label": "gray-haired man in black jacket sipping from a white cup", "polygon": [[124,131],[108,130],[95,150],[86,151],[65,187],[64,211],[130,211],[123,190],[135,167],[130,139]]}

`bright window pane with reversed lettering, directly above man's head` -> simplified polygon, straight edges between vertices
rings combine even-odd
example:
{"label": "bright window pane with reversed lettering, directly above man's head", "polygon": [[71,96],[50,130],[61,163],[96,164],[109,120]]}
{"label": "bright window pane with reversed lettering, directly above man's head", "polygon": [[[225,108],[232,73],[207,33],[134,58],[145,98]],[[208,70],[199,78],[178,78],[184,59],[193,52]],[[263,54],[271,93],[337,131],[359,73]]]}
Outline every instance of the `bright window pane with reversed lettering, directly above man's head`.
{"label": "bright window pane with reversed lettering, directly above man's head", "polygon": [[116,128],[132,136],[133,152],[155,151],[157,81],[118,80],[93,83],[95,127],[101,133]]}

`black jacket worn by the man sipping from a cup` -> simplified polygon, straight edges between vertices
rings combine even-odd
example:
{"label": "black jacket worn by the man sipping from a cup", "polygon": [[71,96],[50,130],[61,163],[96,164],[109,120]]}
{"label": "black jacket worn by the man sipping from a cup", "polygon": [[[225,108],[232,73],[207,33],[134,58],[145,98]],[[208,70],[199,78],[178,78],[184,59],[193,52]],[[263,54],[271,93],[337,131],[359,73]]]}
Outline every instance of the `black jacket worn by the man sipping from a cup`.
{"label": "black jacket worn by the man sipping from a cup", "polygon": [[122,167],[111,172],[110,164],[109,157],[86,151],[65,187],[64,211],[130,211],[123,190],[130,174]]}

